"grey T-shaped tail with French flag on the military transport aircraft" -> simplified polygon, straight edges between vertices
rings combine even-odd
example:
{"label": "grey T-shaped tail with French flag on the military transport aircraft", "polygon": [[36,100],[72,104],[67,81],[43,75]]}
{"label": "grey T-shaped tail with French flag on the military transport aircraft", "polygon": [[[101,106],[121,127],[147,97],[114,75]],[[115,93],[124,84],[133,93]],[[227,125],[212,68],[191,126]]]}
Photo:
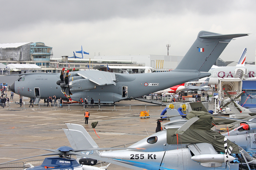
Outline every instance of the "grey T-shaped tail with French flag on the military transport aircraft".
{"label": "grey T-shaped tail with French flag on the military transport aircraft", "polygon": [[236,37],[248,34],[217,34],[208,31],[200,31],[194,44],[183,57],[174,71],[198,70],[208,72],[227,44]]}

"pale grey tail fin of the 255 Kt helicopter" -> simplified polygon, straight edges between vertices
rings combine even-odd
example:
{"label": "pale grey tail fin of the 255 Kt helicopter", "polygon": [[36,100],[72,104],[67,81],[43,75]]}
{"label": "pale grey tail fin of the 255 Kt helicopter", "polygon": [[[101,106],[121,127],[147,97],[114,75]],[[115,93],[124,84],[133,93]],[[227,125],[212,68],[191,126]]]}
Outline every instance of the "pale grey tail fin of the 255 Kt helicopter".
{"label": "pale grey tail fin of the 255 Kt helicopter", "polygon": [[[63,129],[70,145],[75,150],[85,150],[89,148],[99,148],[99,146],[94,142],[89,133],[81,125],[66,123],[68,129]],[[89,151],[90,153],[90,151]],[[89,154],[88,153],[88,154]],[[86,153],[85,153],[86,154]],[[92,153],[90,153],[91,155]],[[98,152],[94,152],[99,156]]]}

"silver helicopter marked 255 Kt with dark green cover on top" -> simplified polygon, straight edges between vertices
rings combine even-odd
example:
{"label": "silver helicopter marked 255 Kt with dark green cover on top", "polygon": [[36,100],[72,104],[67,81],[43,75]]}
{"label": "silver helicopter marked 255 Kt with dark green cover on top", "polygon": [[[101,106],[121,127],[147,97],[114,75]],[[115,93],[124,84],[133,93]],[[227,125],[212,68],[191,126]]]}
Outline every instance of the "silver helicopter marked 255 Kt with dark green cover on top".
{"label": "silver helicopter marked 255 Kt with dark green cover on top", "polygon": [[243,148],[220,133],[210,130],[210,113],[192,111],[186,118],[189,120],[176,119],[169,122],[167,129],[123,150],[95,151],[94,149],[99,148],[98,145],[81,125],[66,123],[68,128],[64,132],[72,147],[77,150],[84,147],[88,149],[83,157],[108,158],[147,170],[256,168],[256,161]]}

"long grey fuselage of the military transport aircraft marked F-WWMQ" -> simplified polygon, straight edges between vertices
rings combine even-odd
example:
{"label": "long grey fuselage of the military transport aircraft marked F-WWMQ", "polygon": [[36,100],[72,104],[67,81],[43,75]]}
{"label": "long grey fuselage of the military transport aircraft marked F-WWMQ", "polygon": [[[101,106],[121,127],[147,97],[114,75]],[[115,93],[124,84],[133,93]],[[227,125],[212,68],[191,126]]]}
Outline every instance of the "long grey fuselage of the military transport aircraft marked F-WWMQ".
{"label": "long grey fuselage of the military transport aircraft marked F-WWMQ", "polygon": [[[91,71],[75,71],[70,73],[70,82],[76,77],[77,74],[90,75]],[[94,71],[93,74],[98,75],[100,71]],[[86,73],[86,74],[85,74]],[[104,72],[96,79],[102,79],[106,75],[111,75],[115,84],[111,85],[97,85],[87,79],[83,83],[74,84],[70,91],[73,95],[70,97],[79,101],[87,98],[88,102],[93,98],[95,101],[98,99],[102,103],[114,103],[124,99],[133,99],[143,95],[153,93],[155,91],[163,90],[183,82],[187,82],[198,77],[208,76],[208,73],[201,73],[198,71],[182,72],[170,71],[162,73],[151,74],[117,74]],[[61,87],[56,84],[59,80],[59,74],[25,74],[21,76],[11,86],[11,89],[21,96],[35,98],[40,96],[41,99],[46,99],[49,96],[55,95],[57,98],[65,99],[64,94],[61,93]],[[79,78],[81,80],[81,77]],[[93,88],[94,86],[94,88]],[[125,91],[125,92],[124,92]]]}

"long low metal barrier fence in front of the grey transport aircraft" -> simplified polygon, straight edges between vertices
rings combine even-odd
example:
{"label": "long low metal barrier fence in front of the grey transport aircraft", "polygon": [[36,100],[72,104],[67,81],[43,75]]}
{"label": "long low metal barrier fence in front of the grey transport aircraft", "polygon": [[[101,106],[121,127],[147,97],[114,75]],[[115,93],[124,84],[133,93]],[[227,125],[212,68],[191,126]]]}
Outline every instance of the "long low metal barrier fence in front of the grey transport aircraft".
{"label": "long low metal barrier fence in front of the grey transport aircraft", "polygon": [[118,111],[118,110],[126,110],[126,111],[162,111],[163,108],[166,106],[162,105],[114,105],[114,104],[102,104],[102,105],[83,105],[79,103],[75,104],[61,104],[61,105],[47,105],[47,103],[42,103],[38,105],[30,105],[29,103],[6,103],[5,108],[8,109],[21,109],[21,110],[27,110],[27,109],[35,109],[35,110],[96,110],[96,111],[102,111],[102,110],[108,110],[108,111]]}

